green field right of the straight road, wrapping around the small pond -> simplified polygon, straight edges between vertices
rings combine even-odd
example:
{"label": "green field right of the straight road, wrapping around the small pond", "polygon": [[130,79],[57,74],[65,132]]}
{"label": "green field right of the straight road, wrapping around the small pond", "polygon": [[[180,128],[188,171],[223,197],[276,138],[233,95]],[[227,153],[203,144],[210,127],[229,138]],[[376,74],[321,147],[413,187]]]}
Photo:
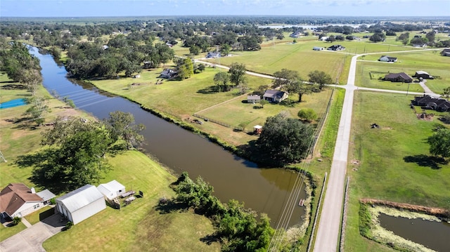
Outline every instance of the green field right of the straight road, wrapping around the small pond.
{"label": "green field right of the straight road, wrapping around the small pond", "polygon": [[[361,198],[450,208],[450,164],[433,164],[426,142],[433,128],[443,124],[437,117],[417,119],[409,107],[411,99],[389,93],[355,94],[345,251],[380,251],[378,244],[359,234]],[[381,128],[371,128],[373,123]]]}

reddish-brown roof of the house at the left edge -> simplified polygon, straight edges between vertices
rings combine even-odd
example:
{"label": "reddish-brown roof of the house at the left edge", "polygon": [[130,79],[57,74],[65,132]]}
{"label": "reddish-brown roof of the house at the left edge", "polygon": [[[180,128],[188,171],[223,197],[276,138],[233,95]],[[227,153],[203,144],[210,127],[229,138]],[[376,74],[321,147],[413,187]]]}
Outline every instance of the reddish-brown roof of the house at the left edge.
{"label": "reddish-brown roof of the house at the left edge", "polygon": [[11,216],[28,201],[43,201],[43,199],[32,193],[23,183],[11,183],[0,192],[0,212],[6,212]]}

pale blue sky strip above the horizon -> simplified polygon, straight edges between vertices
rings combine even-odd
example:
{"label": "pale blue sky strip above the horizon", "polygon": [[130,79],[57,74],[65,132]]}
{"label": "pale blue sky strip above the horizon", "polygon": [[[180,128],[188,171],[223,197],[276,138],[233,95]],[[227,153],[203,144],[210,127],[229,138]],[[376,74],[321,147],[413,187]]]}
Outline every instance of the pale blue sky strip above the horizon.
{"label": "pale blue sky strip above the horizon", "polygon": [[447,16],[449,0],[0,0],[1,17]]}

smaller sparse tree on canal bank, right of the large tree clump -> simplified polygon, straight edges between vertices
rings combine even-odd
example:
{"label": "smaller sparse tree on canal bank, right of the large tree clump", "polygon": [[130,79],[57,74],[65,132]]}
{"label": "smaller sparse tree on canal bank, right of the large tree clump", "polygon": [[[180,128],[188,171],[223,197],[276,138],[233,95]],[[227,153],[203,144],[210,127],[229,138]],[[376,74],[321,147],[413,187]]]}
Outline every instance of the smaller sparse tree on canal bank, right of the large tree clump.
{"label": "smaller sparse tree on canal bank, right of the large tree clump", "polygon": [[146,126],[136,124],[131,113],[110,112],[108,119],[105,119],[105,124],[108,125],[107,128],[113,141],[124,140],[128,149],[139,147],[144,140],[143,135],[140,135],[139,132],[143,131]]}

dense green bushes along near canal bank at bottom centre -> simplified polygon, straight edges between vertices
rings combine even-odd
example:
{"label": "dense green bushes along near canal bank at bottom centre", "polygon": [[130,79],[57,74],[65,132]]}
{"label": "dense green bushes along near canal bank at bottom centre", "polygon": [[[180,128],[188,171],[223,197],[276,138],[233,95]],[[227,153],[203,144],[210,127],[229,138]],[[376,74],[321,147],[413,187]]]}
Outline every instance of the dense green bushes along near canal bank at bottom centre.
{"label": "dense green bushes along near canal bank at bottom centre", "polygon": [[[213,188],[202,178],[193,181],[188,173],[181,173],[173,185],[176,198],[172,203],[185,204],[196,213],[206,215],[215,227],[214,237],[221,242],[221,251],[266,251],[274,234],[266,214],[244,208],[231,199],[222,204],[212,195]],[[167,204],[167,201],[160,201]]]}

